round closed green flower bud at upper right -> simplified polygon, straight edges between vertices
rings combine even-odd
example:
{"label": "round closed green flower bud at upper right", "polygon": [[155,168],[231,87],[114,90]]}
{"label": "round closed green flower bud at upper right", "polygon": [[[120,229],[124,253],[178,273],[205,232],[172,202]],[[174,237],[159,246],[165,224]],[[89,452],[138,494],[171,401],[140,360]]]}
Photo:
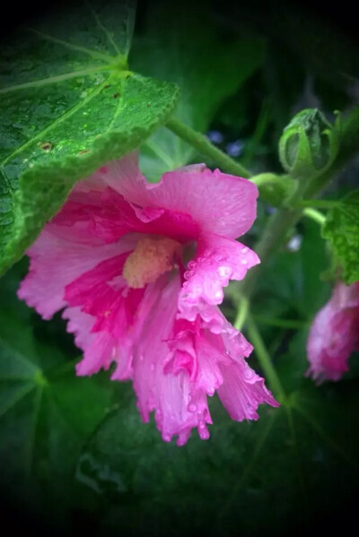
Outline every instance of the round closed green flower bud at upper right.
{"label": "round closed green flower bud at upper right", "polygon": [[315,178],[337,157],[339,117],[334,126],[317,108],[293,117],[279,141],[279,158],[292,178]]}

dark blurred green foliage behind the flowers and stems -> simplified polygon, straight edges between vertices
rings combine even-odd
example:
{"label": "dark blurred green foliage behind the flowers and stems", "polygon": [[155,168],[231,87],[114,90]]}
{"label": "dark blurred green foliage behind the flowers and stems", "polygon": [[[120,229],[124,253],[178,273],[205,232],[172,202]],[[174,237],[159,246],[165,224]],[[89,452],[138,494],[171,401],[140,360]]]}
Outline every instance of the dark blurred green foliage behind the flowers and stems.
{"label": "dark blurred green foliage behind the flowers and stems", "polygon": [[[298,7],[140,2],[129,62],[177,82],[176,115],[255,173],[281,171],[277,142],[294,113],[318,107],[332,118],[359,94],[352,35]],[[165,127],[141,148],[150,180],[194,161],[203,157]],[[357,185],[358,165],[347,164],[328,197]],[[246,244],[271,211],[259,200]],[[257,536],[354,519],[358,356],[339,383],[317,387],[304,377],[311,319],[330,292],[320,279],[327,268],[319,226],[301,221],[253,298],[292,406],[262,407],[258,422],[237,423],[214,397],[211,438],[193,432],[179,448],[141,422],[132,385],[107,373],[74,376],[79,354],[61,316],[42,321],[16,299],[22,259],[0,281],[1,496],[13,527],[21,514],[29,529],[53,533]],[[231,321],[236,304],[233,285],[223,303]],[[255,353],[250,365],[260,374]]]}

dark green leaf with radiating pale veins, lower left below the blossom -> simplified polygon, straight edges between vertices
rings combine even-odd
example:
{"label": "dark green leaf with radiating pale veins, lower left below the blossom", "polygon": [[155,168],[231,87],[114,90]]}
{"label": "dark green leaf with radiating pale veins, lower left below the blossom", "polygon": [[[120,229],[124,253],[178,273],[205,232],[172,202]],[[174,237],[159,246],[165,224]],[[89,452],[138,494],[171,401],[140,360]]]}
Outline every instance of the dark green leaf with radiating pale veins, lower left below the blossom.
{"label": "dark green leaf with radiating pale veins, lower left below the blossom", "polygon": [[20,302],[0,312],[1,483],[10,498],[25,496],[28,509],[61,519],[76,457],[103,419],[111,391],[101,377],[76,377],[78,359],[37,340],[30,321]]}

